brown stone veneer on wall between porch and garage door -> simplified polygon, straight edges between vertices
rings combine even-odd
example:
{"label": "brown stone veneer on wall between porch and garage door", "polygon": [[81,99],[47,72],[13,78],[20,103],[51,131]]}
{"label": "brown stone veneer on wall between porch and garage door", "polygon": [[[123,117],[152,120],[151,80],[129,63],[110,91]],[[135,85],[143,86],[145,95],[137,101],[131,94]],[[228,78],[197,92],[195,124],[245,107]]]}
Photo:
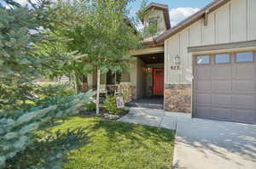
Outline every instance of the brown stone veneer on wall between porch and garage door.
{"label": "brown stone veneer on wall between porch and garage door", "polygon": [[166,84],[164,108],[166,111],[191,113],[190,84]]}

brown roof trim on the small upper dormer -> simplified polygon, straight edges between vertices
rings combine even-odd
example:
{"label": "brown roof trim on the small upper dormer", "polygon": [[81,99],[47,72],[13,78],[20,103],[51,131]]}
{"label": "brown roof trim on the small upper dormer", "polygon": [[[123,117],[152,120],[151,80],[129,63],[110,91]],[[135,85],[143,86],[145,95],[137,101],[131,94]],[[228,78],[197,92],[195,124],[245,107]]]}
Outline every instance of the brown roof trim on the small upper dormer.
{"label": "brown roof trim on the small upper dormer", "polygon": [[169,16],[169,8],[168,5],[160,4],[160,3],[150,3],[146,8],[145,11],[147,12],[151,8],[159,9],[163,11],[165,22],[166,22],[166,29],[169,30],[171,28],[171,21]]}

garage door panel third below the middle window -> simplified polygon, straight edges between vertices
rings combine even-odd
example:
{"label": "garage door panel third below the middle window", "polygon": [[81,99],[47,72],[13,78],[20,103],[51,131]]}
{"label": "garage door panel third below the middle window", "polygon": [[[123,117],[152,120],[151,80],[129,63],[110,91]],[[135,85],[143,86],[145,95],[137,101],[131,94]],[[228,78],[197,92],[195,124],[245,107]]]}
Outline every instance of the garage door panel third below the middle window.
{"label": "garage door panel third below the middle window", "polygon": [[226,94],[212,94],[212,104],[232,106],[232,96]]}

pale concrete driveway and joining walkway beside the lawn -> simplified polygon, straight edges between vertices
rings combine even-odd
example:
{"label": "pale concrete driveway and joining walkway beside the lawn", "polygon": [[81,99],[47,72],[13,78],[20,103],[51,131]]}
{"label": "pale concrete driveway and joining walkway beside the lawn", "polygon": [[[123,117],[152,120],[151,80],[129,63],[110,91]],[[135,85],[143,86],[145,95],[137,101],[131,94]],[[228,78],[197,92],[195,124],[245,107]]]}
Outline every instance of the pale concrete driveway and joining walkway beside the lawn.
{"label": "pale concrete driveway and joining walkway beside the lawn", "polygon": [[176,129],[174,169],[255,169],[256,126],[131,108],[119,121]]}

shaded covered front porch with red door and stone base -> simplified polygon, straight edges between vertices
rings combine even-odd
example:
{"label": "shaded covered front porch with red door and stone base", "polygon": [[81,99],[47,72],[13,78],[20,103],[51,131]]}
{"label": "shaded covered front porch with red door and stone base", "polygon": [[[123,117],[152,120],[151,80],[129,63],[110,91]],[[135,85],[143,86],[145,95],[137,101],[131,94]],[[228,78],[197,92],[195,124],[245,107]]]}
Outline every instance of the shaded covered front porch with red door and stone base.
{"label": "shaded covered front porch with red door and stone base", "polygon": [[[132,105],[154,105],[157,109],[163,109],[164,48],[138,49],[131,51],[131,55],[135,59],[131,61],[130,70],[101,75],[102,98],[119,94],[121,90]],[[96,89],[96,71],[87,76],[87,82],[89,89]]]}

